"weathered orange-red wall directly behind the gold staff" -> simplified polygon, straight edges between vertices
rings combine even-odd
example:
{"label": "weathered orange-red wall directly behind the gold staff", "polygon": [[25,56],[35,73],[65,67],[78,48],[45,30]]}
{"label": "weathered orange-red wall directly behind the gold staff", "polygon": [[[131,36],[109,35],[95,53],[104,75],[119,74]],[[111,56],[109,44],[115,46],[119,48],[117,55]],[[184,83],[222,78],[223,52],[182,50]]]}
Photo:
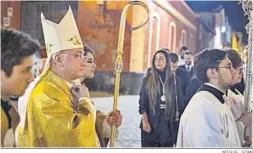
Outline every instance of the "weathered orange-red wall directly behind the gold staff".
{"label": "weathered orange-red wall directly behind the gold staff", "polygon": [[[108,1],[104,15],[98,15],[97,2],[79,1],[77,25],[83,43],[95,52],[97,70],[112,71],[115,68],[120,18],[126,1]],[[124,71],[129,71],[131,47],[131,10],[126,21],[124,37]]]}

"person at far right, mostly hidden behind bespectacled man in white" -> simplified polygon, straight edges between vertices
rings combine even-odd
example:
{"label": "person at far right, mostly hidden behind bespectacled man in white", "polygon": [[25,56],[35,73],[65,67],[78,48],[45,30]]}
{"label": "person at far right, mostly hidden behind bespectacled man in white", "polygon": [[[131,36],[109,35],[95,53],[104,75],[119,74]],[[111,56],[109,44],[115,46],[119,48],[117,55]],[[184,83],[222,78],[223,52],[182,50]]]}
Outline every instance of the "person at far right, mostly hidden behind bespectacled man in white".
{"label": "person at far right, mostly hidden behind bespectacled man in white", "polygon": [[229,49],[227,50],[227,54],[233,64],[233,68],[235,69],[233,80],[231,82],[232,87],[227,92],[227,104],[234,115],[241,144],[245,147],[249,147],[252,141],[252,112],[245,112],[243,96],[243,62],[237,51]]}

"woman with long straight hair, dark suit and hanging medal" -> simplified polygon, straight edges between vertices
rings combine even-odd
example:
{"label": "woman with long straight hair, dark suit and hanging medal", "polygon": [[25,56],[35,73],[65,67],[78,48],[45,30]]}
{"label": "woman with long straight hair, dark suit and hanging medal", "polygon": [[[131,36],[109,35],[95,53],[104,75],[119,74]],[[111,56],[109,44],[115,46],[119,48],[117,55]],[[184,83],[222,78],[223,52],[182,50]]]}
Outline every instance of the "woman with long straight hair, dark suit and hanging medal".
{"label": "woman with long straight hair, dark suit and hanging medal", "polygon": [[146,77],[139,99],[142,147],[173,147],[184,101],[166,50],[155,53]]}

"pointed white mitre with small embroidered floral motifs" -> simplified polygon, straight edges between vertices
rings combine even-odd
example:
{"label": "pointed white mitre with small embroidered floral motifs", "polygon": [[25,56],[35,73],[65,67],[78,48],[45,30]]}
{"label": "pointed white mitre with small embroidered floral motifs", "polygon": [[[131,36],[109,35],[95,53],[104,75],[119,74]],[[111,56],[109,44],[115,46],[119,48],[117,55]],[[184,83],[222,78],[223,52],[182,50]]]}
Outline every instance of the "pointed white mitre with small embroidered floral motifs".
{"label": "pointed white mitre with small embroidered floral motifs", "polygon": [[48,57],[63,50],[83,48],[70,6],[59,24],[45,19],[43,13],[41,23]]}

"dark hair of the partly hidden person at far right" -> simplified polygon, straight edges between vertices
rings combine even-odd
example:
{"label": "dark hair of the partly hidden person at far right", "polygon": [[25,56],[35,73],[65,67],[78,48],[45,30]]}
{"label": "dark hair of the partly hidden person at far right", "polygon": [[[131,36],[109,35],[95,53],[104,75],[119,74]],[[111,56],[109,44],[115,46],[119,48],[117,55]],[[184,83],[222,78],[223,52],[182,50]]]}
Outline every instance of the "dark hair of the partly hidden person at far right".
{"label": "dark hair of the partly hidden person at far right", "polygon": [[227,49],[228,59],[231,61],[233,68],[236,69],[239,66],[242,66],[242,59],[237,51],[233,49]]}

